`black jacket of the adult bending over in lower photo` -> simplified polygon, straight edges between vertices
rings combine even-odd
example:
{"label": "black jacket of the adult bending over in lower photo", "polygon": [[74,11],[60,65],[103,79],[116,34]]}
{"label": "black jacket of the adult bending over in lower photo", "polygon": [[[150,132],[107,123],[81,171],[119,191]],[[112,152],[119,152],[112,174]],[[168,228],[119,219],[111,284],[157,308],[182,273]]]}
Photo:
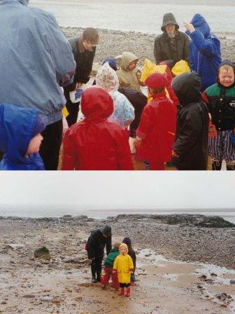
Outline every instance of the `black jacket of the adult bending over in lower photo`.
{"label": "black jacket of the adult bending over in lower photo", "polygon": [[106,246],[106,254],[111,252],[112,237],[104,237],[101,229],[95,229],[92,231],[90,237],[87,240],[87,257],[88,259],[94,259],[96,257],[104,257],[104,247]]}

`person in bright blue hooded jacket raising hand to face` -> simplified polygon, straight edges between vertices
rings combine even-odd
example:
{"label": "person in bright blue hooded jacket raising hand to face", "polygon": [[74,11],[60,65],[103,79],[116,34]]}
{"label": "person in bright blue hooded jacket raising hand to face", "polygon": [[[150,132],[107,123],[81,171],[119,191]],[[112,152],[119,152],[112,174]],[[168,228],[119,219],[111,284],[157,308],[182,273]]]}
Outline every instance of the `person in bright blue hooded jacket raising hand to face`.
{"label": "person in bright blue hooded jacket raising hand to face", "polygon": [[220,40],[200,14],[195,14],[191,23],[185,23],[190,36],[190,67],[201,78],[201,90],[215,83],[221,63]]}

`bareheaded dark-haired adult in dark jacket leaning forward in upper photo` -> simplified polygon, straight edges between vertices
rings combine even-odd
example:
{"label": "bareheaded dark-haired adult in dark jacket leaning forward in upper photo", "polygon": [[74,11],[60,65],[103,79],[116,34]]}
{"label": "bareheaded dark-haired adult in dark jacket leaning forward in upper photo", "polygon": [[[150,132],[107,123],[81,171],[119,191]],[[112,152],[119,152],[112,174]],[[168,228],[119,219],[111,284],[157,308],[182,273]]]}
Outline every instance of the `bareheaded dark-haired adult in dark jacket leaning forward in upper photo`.
{"label": "bareheaded dark-haired adult in dark jacket leaning forward in upper photo", "polygon": [[73,49],[74,59],[76,61],[76,74],[73,78],[73,83],[64,88],[64,96],[66,97],[66,108],[69,111],[69,116],[66,117],[68,125],[71,126],[77,122],[79,102],[73,104],[69,98],[69,92],[76,90],[90,80],[90,72],[96,45],[99,42],[97,30],[92,27],[84,29],[80,37],[69,39],[69,43]]}

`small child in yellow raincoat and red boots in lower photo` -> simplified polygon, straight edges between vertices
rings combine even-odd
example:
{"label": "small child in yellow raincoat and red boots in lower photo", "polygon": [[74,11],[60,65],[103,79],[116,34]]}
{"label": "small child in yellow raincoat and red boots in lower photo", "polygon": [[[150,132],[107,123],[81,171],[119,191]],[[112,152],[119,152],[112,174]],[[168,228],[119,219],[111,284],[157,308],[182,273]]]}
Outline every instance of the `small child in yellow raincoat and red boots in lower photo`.
{"label": "small child in yellow raincoat and red boots in lower photo", "polygon": [[[134,265],[131,257],[127,254],[128,247],[125,243],[122,243],[119,248],[120,255],[115,258],[113,264],[113,272],[118,273],[118,281],[120,284],[120,296],[130,296],[131,295],[131,273],[134,271]],[[124,288],[126,288],[126,293],[124,294]]]}

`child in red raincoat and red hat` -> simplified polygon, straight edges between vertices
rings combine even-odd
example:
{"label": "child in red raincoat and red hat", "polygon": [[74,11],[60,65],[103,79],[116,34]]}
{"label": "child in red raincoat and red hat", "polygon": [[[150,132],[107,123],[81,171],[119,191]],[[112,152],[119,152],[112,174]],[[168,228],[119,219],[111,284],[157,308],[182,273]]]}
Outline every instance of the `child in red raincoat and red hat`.
{"label": "child in red raincoat and red hat", "polygon": [[164,74],[151,74],[145,80],[153,100],[143,109],[135,146],[136,159],[148,161],[150,170],[164,170],[164,162],[171,160],[176,106],[166,97],[164,88],[168,85]]}

